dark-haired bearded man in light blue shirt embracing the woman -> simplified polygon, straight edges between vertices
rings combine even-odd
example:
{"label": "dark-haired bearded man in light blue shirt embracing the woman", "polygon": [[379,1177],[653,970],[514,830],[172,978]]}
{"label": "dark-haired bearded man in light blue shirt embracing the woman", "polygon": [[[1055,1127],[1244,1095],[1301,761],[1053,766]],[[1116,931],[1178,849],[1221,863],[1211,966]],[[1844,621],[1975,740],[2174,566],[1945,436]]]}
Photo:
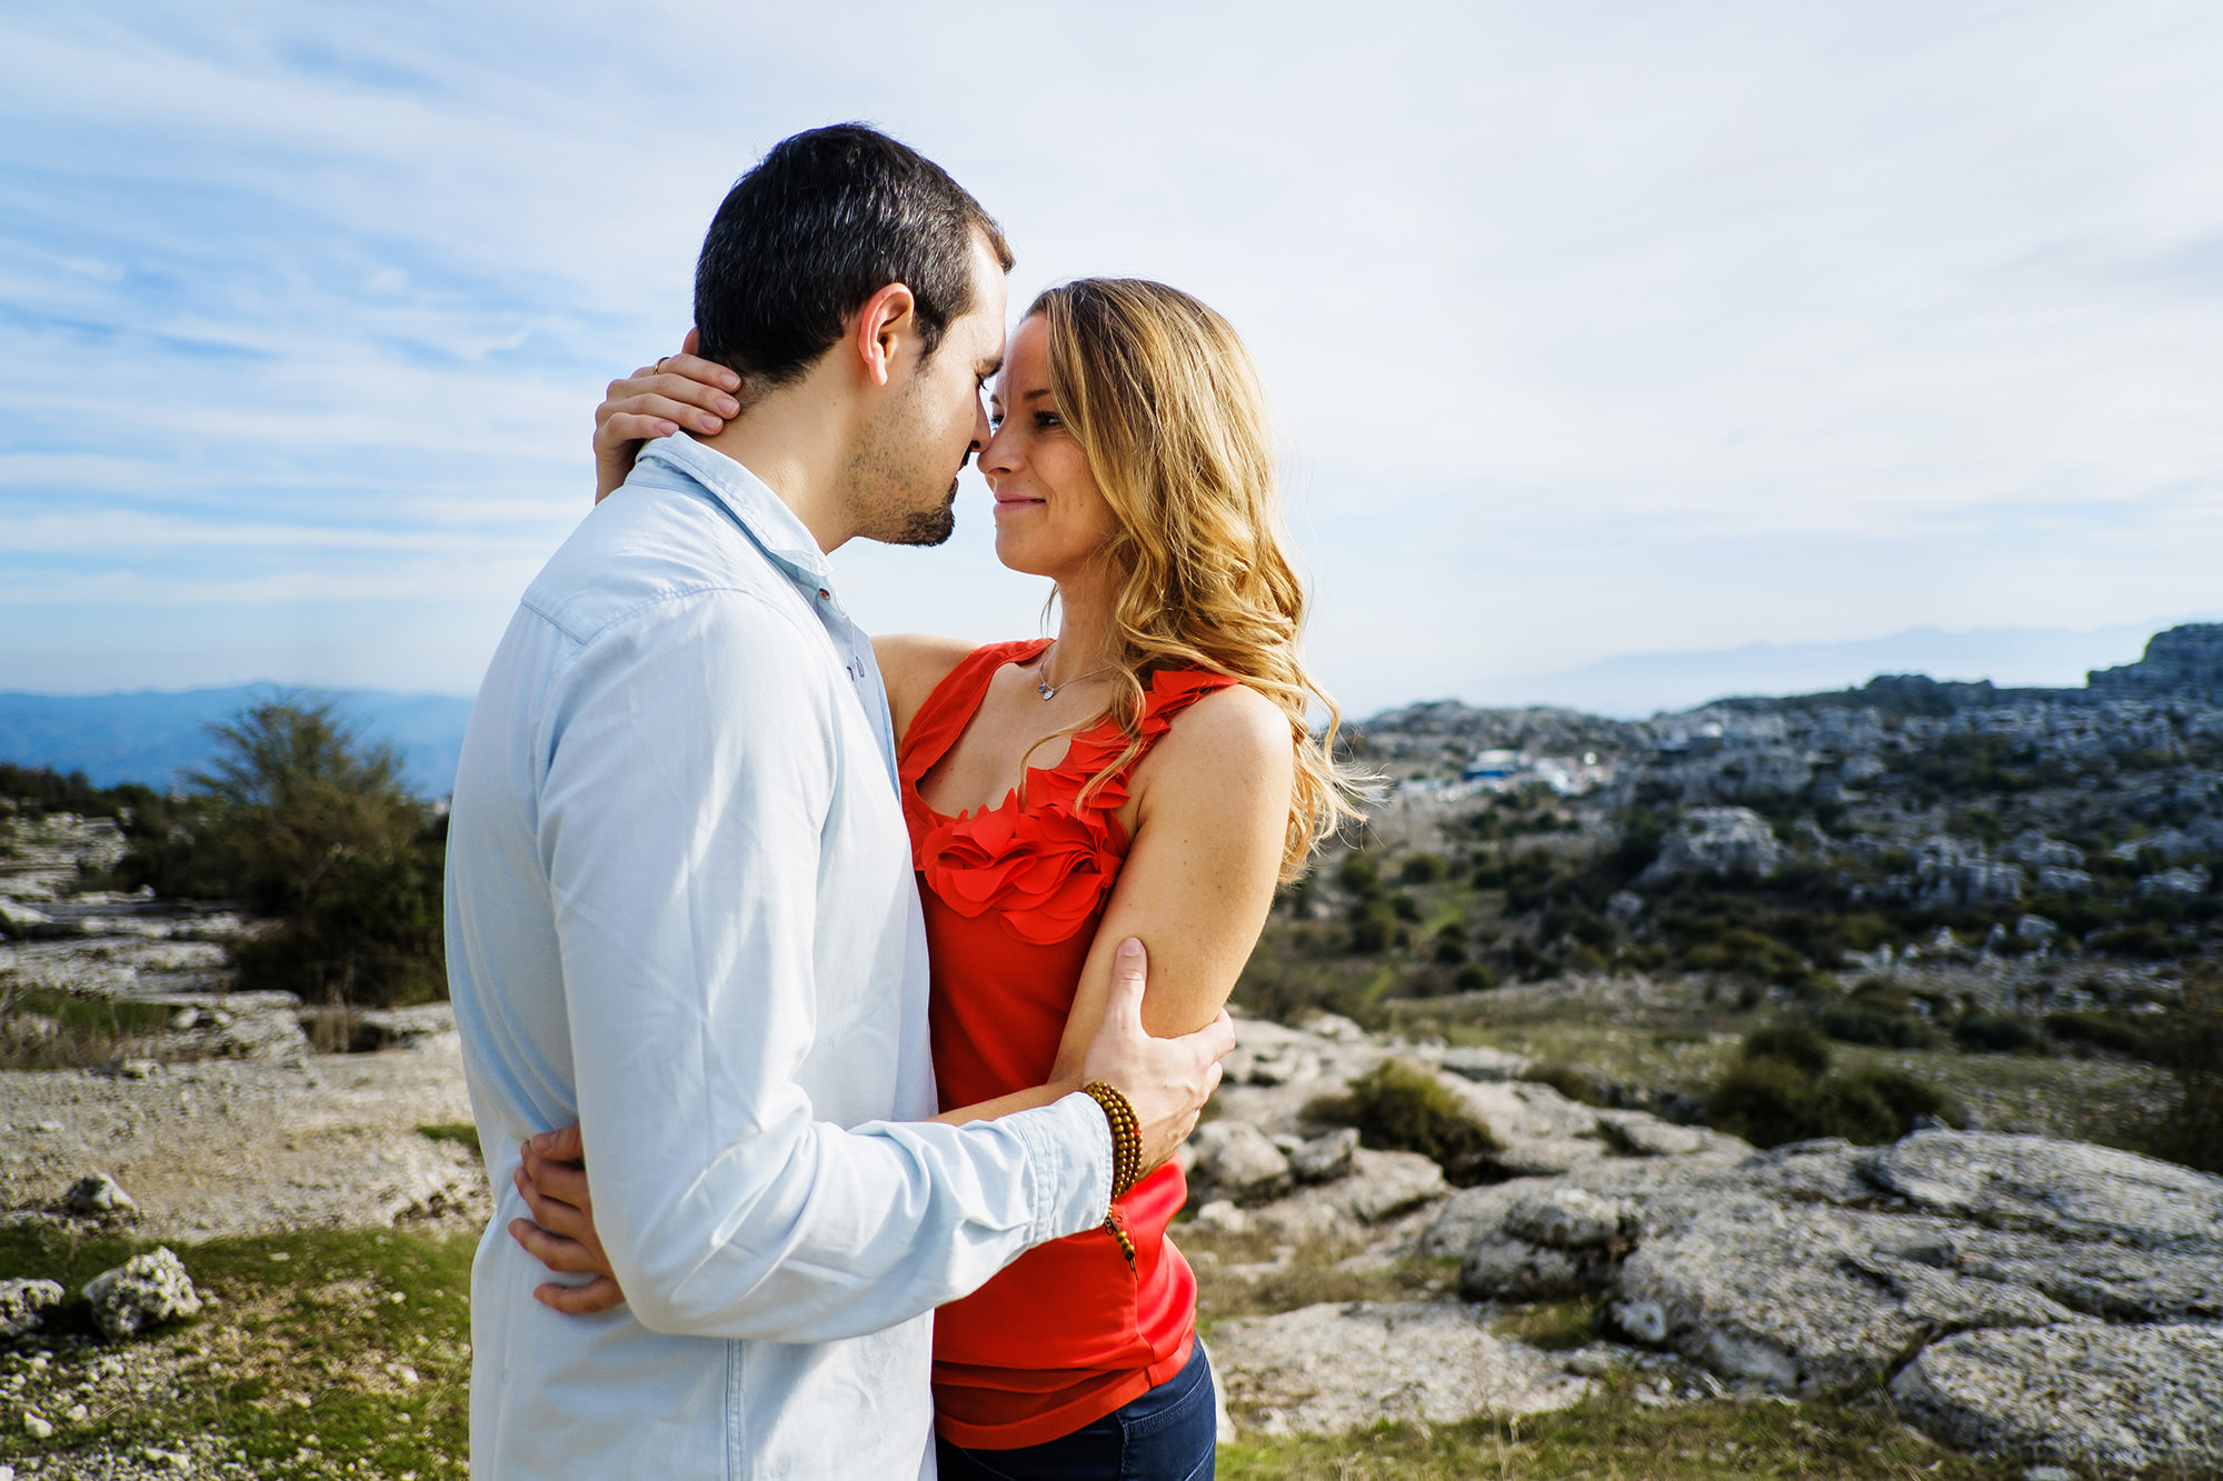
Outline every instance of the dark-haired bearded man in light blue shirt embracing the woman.
{"label": "dark-haired bearded man in light blue shirt embracing the woman", "polygon": [[[696,285],[731,420],[651,443],[494,656],[447,874],[498,1194],[471,1272],[476,1477],[931,1474],[927,1312],[1105,1219],[1132,1132],[1096,1099],[927,1121],[887,698],[827,571],[854,536],[947,538],[1007,265],[896,140],[776,147]],[[1234,1036],[1149,1038],[1140,954],[1120,961],[1083,1079],[1125,1094],[1123,1150],[1154,1163]],[[616,1310],[607,1279],[551,1285],[596,1261],[522,1219],[525,1159],[580,1147]]]}

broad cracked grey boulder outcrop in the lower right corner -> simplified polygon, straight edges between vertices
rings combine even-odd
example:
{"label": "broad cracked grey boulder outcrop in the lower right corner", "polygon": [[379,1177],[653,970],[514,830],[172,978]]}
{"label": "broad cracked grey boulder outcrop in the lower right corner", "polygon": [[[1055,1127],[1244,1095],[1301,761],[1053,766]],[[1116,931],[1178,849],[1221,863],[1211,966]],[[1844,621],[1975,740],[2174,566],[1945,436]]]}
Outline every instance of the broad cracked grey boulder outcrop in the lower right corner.
{"label": "broad cracked grey boulder outcrop in the lower right corner", "polygon": [[[1754,1388],[1905,1368],[1941,1439],[2072,1465],[2116,1465],[2105,1437],[2132,1432],[2190,1454],[2185,1354],[2223,1330],[2223,1179],[2038,1136],[1592,1163],[1461,1192],[1423,1248],[1463,1256],[1467,1296],[1605,1292],[1623,1336]],[[2014,1439],[2043,1394],[2072,1408]]]}

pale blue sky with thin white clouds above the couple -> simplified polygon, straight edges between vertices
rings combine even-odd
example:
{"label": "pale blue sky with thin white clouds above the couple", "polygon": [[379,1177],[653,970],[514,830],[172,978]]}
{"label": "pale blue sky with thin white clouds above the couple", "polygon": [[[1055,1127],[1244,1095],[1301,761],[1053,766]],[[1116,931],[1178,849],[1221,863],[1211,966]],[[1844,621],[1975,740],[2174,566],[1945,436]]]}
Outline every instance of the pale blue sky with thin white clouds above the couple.
{"label": "pale blue sky with thin white clouds above the couple", "polygon": [[[840,118],[1014,300],[1245,331],[1358,709],[2212,612],[2216,76],[2192,0],[16,7],[0,689],[469,692],[725,187]],[[1031,632],[987,536],[967,478],[845,596]]]}

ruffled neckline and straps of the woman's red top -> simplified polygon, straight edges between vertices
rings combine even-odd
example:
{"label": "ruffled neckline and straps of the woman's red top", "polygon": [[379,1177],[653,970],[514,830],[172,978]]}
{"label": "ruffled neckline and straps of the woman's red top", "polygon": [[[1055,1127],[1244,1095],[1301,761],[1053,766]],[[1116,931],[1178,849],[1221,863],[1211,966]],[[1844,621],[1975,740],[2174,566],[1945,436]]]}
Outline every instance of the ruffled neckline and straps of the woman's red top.
{"label": "ruffled neckline and straps of the woman's red top", "polygon": [[1056,945],[1089,923],[1127,858],[1127,829],[1114,814],[1127,803],[1134,763],[1174,727],[1176,714],[1236,683],[1203,669],[1152,674],[1138,723],[1143,747],[1087,801],[1080,792],[1089,778],[1127,749],[1112,718],[1076,734],[1058,765],[1029,769],[1025,803],[1011,792],[998,807],[956,818],[927,807],[918,781],[956,745],[989,678],[1005,663],[1025,663],[1045,647],[1005,643],[960,663],[911,720],[918,745],[907,747],[900,765],[911,858],[925,887],[960,916],[994,914],[1007,936],[1029,945]]}

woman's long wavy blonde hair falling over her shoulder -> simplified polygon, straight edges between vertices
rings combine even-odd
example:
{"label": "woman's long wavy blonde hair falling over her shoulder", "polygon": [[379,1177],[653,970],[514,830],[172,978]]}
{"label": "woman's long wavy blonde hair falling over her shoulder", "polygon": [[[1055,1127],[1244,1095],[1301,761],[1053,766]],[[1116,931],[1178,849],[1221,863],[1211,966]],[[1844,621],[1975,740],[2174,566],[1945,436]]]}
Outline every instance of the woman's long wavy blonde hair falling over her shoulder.
{"label": "woman's long wavy blonde hair falling over her shoulder", "polygon": [[[1158,669],[1198,667],[1243,680],[1289,716],[1296,789],[1280,876],[1358,818],[1358,778],[1336,761],[1336,703],[1296,656],[1305,587],[1283,549],[1265,394],[1234,327],[1209,307],[1143,278],[1078,278],[1027,309],[1049,327],[1049,389],[1118,516],[1103,551],[1120,571],[1112,716],[1127,752]],[[1314,734],[1314,703],[1327,727]]]}

